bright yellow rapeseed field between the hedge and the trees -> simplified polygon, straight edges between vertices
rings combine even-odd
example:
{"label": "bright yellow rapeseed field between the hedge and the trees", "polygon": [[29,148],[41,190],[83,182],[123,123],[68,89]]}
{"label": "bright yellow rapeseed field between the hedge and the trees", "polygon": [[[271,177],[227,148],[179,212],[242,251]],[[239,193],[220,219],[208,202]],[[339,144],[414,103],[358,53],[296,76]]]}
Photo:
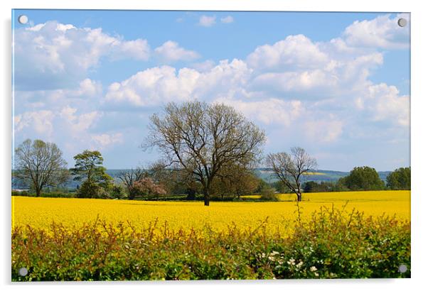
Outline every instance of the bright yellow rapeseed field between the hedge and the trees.
{"label": "bright yellow rapeseed field between the hedge and the trees", "polygon": [[[247,197],[250,198],[250,197]],[[257,198],[257,197],[255,197]],[[291,226],[296,219],[294,194],[280,194],[281,202],[147,202],[109,199],[12,197],[12,227],[30,225],[47,229],[54,221],[70,229],[98,219],[117,224],[129,221],[135,227],[156,221],[173,229],[203,229],[210,225],[224,230],[235,224],[255,229],[267,221],[268,229]],[[320,207],[353,209],[366,215],[395,215],[410,221],[410,191],[326,192],[303,195],[299,204],[306,219]]]}

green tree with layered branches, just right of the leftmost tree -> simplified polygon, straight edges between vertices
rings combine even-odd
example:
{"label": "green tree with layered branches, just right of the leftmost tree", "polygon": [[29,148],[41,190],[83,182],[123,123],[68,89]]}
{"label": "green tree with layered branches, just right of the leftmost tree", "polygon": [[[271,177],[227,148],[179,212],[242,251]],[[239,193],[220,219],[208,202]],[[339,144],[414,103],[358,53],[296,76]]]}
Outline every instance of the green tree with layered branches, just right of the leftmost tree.
{"label": "green tree with layered branches, just right of the leftmost tree", "polygon": [[98,150],[85,150],[74,156],[75,168],[70,169],[75,176],[74,180],[83,181],[80,187],[80,197],[97,197],[98,187],[107,190],[112,186],[112,177],[102,166],[104,159]]}

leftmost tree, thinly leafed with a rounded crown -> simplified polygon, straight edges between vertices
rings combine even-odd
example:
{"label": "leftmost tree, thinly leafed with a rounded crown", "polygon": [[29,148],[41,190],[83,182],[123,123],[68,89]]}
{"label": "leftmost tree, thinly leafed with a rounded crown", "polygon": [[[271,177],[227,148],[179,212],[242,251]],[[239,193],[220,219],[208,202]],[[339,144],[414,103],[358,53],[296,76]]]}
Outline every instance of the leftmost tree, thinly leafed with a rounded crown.
{"label": "leftmost tree, thinly leafed with a rounded crown", "polygon": [[15,155],[18,177],[32,185],[37,197],[44,187],[60,185],[70,177],[67,162],[55,143],[26,139],[15,149]]}

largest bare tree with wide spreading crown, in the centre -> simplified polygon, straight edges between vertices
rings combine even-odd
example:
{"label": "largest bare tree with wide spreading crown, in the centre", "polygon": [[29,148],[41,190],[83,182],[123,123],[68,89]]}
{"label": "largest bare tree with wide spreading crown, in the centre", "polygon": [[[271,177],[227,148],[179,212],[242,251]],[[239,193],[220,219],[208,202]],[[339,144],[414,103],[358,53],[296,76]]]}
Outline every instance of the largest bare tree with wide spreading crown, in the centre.
{"label": "largest bare tree with wide spreading crown, in the centre", "polygon": [[264,131],[225,104],[188,101],[169,103],[163,114],[151,116],[144,148],[157,147],[171,165],[200,182],[204,204],[210,204],[213,179],[230,164],[257,160]]}

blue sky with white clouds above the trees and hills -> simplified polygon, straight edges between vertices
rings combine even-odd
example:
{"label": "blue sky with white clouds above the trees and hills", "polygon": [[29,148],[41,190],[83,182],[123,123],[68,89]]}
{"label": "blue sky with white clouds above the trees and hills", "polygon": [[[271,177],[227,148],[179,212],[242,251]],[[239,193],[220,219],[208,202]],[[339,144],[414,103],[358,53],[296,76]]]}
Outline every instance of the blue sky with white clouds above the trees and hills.
{"label": "blue sky with white clouds above the trees and hills", "polygon": [[[20,15],[28,23],[18,23]],[[14,146],[56,143],[71,168],[149,165],[149,117],[169,101],[233,106],[264,153],[319,169],[410,166],[408,13],[12,11]]]}

